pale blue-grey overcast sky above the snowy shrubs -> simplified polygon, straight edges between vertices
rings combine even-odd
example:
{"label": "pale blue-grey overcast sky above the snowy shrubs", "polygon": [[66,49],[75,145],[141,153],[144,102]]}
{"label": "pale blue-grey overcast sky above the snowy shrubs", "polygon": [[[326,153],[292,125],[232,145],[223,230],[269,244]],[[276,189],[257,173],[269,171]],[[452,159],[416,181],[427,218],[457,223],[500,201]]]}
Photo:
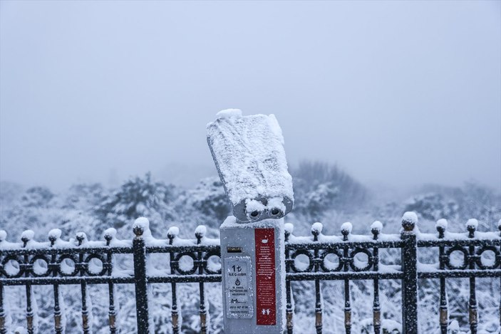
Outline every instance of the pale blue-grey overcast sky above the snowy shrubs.
{"label": "pale blue-grey overcast sky above the snowy shrubs", "polygon": [[291,165],[501,189],[500,1],[1,1],[0,19],[1,180],[196,179],[206,123],[240,108],[277,115]]}

